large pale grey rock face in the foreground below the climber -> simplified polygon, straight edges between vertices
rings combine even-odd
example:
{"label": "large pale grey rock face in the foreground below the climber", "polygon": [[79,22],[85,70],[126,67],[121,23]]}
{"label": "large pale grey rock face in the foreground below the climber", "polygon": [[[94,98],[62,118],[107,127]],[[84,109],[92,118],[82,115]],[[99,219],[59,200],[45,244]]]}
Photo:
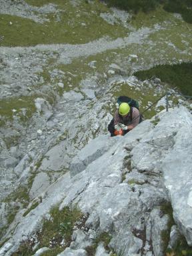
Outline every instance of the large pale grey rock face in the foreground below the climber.
{"label": "large pale grey rock face in the foreground below the climber", "polygon": [[[159,119],[156,126],[153,120],[143,121],[124,137],[93,139],[71,164],[73,177],[63,175],[41,194],[41,203],[17,223],[1,255],[11,255],[23,236],[30,236],[59,202],[59,209],[78,205],[89,216],[86,229],[76,227],[70,247],[60,255],[87,255],[87,246],[105,232],[111,235],[108,246],[116,253],[163,256],[168,246],[163,234],[171,231],[164,208],[170,202],[175,223],[191,245],[191,158],[187,154],[191,153],[192,117],[180,107],[160,113]],[[85,161],[83,168],[77,168],[77,159],[79,166]],[[101,251],[102,255],[109,253],[99,243],[96,254]]]}

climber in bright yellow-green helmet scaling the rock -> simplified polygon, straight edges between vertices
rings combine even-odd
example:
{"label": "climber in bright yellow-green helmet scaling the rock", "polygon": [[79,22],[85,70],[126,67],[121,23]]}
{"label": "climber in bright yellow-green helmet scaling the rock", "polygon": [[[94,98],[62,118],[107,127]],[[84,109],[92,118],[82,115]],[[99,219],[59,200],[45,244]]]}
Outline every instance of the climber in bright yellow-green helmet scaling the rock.
{"label": "climber in bright yellow-green helmet scaling the rock", "polygon": [[115,135],[125,135],[140,122],[139,110],[123,102],[119,105],[114,118],[111,120],[111,123],[109,123],[108,131],[111,133],[111,137]]}

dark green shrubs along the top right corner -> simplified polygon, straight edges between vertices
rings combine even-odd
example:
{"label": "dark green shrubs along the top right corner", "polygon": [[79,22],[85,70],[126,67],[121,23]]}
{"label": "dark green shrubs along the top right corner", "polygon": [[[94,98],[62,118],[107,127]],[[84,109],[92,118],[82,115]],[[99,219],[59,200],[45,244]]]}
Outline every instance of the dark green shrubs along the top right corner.
{"label": "dark green shrubs along the top right corner", "polygon": [[192,1],[191,0],[107,0],[111,6],[119,7],[127,11],[148,12],[162,4],[165,11],[180,13],[183,19],[192,23]]}

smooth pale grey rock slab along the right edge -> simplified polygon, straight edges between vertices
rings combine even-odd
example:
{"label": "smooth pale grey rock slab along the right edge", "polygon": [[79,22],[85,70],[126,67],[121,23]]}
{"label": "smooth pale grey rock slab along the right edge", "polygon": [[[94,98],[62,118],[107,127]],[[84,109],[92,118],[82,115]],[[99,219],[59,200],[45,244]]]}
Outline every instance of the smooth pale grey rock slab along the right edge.
{"label": "smooth pale grey rock slab along the right edge", "polygon": [[[176,111],[175,111],[176,112]],[[165,186],[169,191],[173,217],[187,243],[192,245],[192,118],[185,108],[177,110],[183,123],[175,135],[174,146],[163,161]],[[175,113],[175,114],[176,114]],[[170,120],[171,122],[171,120]]]}

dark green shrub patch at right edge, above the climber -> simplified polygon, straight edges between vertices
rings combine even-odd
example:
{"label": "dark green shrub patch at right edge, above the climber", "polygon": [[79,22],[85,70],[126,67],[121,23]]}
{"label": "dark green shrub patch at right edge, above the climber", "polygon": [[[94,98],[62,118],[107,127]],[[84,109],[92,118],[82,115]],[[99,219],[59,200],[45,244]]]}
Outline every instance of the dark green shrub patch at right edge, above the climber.
{"label": "dark green shrub patch at right edge, above the climber", "polygon": [[183,95],[192,96],[192,62],[175,65],[157,65],[134,73],[141,80],[159,77],[162,82],[177,87]]}

